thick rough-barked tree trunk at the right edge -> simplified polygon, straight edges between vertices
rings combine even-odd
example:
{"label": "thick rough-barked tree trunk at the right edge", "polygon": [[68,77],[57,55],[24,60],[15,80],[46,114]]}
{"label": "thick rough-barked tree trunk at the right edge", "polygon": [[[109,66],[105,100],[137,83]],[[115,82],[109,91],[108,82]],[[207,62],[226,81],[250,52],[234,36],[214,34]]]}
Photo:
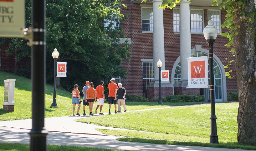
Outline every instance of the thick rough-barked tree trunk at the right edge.
{"label": "thick rough-barked tree trunk at the right edge", "polygon": [[[238,135],[239,143],[256,144],[256,56],[255,21],[251,24],[244,18],[254,12],[254,0],[246,0],[245,15],[239,15],[242,7],[235,12],[235,25],[240,25],[234,35],[236,79],[238,87]],[[254,17],[254,16],[253,16]],[[253,17],[252,20],[253,20]],[[251,29],[248,29],[251,27]]]}

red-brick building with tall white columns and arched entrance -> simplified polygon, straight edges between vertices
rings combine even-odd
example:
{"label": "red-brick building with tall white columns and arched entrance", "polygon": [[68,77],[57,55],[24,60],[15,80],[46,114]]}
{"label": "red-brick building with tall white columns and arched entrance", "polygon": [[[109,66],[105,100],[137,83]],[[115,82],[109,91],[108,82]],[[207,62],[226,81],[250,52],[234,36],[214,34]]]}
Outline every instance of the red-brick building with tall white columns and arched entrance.
{"label": "red-brick building with tall white columns and arched entrance", "polygon": [[[211,7],[212,0],[181,1],[173,9],[158,9],[161,0],[143,2],[139,0],[123,0],[127,9],[121,13],[130,17],[121,21],[126,36],[131,44],[130,63],[121,64],[129,71],[124,79],[117,78],[126,88],[127,94],[143,95],[152,100],[159,97],[158,59],[163,66],[161,70],[169,70],[169,82],[161,83],[161,96],[172,94],[201,94],[210,100],[208,88],[186,89],[187,57],[207,56],[209,46],[203,29],[209,20],[218,29],[218,36],[213,45],[215,101],[227,101],[227,92],[236,92],[236,79],[228,79],[224,69],[234,57],[230,47],[224,46],[228,39],[219,33],[227,32],[221,24],[225,21],[225,10]],[[235,72],[232,73],[235,75]]]}

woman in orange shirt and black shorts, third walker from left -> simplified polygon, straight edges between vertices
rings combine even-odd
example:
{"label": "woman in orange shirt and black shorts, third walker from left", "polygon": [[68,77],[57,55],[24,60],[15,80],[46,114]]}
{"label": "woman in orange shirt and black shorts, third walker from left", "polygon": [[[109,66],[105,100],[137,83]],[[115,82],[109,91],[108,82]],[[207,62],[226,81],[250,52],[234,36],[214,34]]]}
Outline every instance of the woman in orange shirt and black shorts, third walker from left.
{"label": "woman in orange shirt and black shorts, third walker from left", "polygon": [[93,102],[96,102],[96,90],[93,88],[93,83],[91,82],[89,84],[89,89],[86,90],[86,102],[89,102],[89,109],[90,109],[90,114],[89,116],[93,116],[92,114],[92,106]]}

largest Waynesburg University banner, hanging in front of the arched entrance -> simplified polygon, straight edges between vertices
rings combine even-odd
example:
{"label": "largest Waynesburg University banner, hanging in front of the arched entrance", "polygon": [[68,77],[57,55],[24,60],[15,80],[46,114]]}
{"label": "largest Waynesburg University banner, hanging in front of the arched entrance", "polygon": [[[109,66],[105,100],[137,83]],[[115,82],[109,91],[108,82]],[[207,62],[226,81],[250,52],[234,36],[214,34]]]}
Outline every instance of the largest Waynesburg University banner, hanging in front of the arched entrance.
{"label": "largest Waynesburg University banner, hanging in front of the arched entrance", "polygon": [[187,88],[208,88],[208,57],[187,58]]}

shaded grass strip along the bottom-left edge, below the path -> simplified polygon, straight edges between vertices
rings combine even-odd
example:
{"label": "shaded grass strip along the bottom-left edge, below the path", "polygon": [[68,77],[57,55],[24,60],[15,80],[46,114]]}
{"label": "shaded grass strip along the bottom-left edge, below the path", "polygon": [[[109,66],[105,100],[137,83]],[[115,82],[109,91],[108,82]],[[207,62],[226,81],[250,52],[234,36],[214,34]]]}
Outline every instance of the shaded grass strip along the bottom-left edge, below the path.
{"label": "shaded grass strip along the bottom-left edge, below the path", "polygon": [[[57,146],[47,145],[48,151],[117,151],[113,149],[100,149],[90,147],[77,147],[77,146]],[[18,143],[0,143],[0,151],[29,151],[28,144]]]}

